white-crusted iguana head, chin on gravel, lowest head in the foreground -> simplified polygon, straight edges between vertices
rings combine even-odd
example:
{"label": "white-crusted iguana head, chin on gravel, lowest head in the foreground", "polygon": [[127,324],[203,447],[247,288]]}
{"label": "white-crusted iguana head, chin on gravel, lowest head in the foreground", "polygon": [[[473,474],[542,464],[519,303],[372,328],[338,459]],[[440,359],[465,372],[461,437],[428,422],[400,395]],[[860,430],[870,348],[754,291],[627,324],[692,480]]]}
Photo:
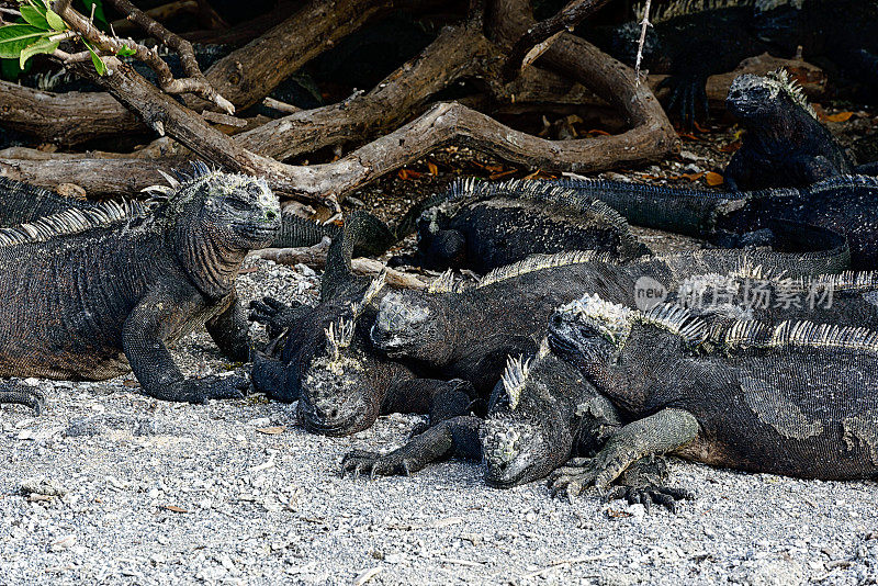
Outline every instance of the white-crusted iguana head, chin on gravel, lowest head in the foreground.
{"label": "white-crusted iguana head, chin on gravel, lowest head in the foreground", "polygon": [[[570,457],[573,435],[552,396],[548,345],[528,360],[510,358],[480,439],[485,482],[508,488],[547,476]],[[534,373],[536,371],[536,373]]]}

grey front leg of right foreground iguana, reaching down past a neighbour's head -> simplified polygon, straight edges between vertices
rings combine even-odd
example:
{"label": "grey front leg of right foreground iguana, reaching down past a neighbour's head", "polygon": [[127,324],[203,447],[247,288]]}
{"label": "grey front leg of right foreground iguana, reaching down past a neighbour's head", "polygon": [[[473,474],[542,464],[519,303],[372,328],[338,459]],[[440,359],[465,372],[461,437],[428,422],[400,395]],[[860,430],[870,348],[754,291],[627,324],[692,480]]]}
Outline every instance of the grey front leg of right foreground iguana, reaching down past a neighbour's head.
{"label": "grey front leg of right foreground iguana, reaching down past a neighbour's head", "polygon": [[553,493],[570,498],[594,484],[606,491],[632,462],[653,453],[665,453],[698,435],[698,420],[683,409],[666,408],[628,424],[610,438],[595,458],[575,458],[549,477]]}

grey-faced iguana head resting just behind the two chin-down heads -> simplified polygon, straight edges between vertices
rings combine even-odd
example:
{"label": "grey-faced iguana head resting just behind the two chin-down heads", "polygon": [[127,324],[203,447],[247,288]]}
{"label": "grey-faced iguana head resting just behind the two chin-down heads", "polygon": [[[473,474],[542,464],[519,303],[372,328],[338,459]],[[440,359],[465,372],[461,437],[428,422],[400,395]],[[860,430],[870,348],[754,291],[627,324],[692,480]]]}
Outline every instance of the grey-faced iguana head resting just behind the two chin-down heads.
{"label": "grey-faced iguana head resting just behind the two chin-down heads", "polygon": [[442,363],[449,353],[441,296],[415,291],[384,295],[372,326],[372,342],[387,356]]}

